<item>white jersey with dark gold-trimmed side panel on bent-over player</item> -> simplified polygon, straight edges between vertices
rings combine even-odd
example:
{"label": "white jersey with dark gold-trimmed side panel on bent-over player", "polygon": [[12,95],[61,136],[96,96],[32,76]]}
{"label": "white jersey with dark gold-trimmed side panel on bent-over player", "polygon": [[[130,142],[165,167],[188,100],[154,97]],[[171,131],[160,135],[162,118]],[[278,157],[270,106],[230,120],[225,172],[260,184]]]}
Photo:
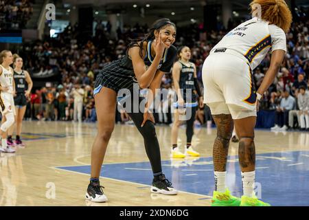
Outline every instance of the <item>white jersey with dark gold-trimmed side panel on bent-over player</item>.
{"label": "white jersey with dark gold-trimmed side panel on bent-over player", "polygon": [[286,51],[286,34],[276,25],[268,25],[267,21],[254,17],[231,30],[211,50],[234,50],[247,58],[251,69],[258,67],[272,47],[274,50]]}

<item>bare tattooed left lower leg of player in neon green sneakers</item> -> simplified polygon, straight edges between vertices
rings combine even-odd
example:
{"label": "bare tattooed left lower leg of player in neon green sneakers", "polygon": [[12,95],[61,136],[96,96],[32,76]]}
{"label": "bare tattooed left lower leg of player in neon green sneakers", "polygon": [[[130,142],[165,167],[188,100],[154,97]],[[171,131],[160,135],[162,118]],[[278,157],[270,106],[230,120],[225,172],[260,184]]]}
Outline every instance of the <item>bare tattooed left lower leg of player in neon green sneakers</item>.
{"label": "bare tattooed left lower leg of player in neon green sneakers", "polygon": [[227,170],[227,155],[229,153],[229,140],[233,132],[233,120],[231,115],[213,115],[217,126],[217,137],[214,142],[213,159],[214,171],[225,172]]}

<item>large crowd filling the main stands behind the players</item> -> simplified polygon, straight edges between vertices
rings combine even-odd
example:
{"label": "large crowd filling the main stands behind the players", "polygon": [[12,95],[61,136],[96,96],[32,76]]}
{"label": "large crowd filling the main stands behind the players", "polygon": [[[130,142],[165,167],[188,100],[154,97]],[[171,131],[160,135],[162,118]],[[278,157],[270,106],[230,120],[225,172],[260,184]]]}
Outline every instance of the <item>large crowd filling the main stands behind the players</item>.
{"label": "large crowd filling the main stands behind the players", "polygon": [[[305,124],[309,124],[306,120],[308,115],[308,104],[304,107],[304,103],[299,103],[299,90],[304,87],[304,94],[308,94],[308,21],[293,23],[290,32],[287,36],[288,52],[284,58],[284,63],[277,74],[277,78],[268,91],[264,94],[260,109],[265,111],[277,111],[275,129],[286,130],[288,128],[303,128],[304,120],[301,120],[299,115],[304,114]],[[235,26],[235,24],[234,24]],[[117,37],[113,39],[111,36],[111,24],[103,25],[98,22],[95,28],[95,34],[85,39],[78,24],[69,25],[65,31],[58,35],[56,39],[46,38],[45,41],[36,41],[32,45],[25,45],[24,52],[27,68],[32,73],[41,72],[43,75],[49,73],[58,73],[62,77],[59,85],[52,88],[43,88],[36,91],[34,96],[41,96],[42,107],[41,111],[36,111],[34,117],[45,118],[47,120],[72,120],[73,112],[76,106],[76,97],[82,100],[82,119],[87,121],[95,121],[95,111],[93,102],[93,82],[96,74],[111,61],[124,56],[128,39],[135,39],[138,36],[143,36],[147,32],[148,26],[134,25],[130,27],[125,25],[123,30],[118,28]],[[219,31],[204,32],[201,25],[192,24],[186,28],[178,28],[176,42],[174,45],[188,45],[192,51],[192,62],[196,64],[198,79],[201,83],[202,65],[205,58],[209,55],[212,47],[227,31],[222,29]],[[253,72],[255,87],[259,87],[264,74],[270,63],[270,54],[266,56],[262,64]],[[203,83],[201,83],[203,86]],[[171,75],[165,75],[162,80],[162,87],[172,90]],[[76,89],[80,89],[80,95],[76,94]],[[54,97],[54,105],[49,106],[48,102],[53,98],[43,98],[43,94]],[[53,94],[53,95],[50,95]],[[82,95],[83,94],[83,95]],[[306,95],[307,96],[307,95]],[[172,97],[172,96],[170,96]],[[47,100],[45,100],[47,99]],[[49,100],[48,100],[49,99]],[[286,100],[287,99],[287,100]],[[32,105],[35,106],[36,98],[32,100]],[[47,104],[45,103],[47,102]],[[293,105],[290,104],[293,102]],[[65,103],[65,104],[62,104]],[[168,100],[170,104],[171,101]],[[309,103],[306,102],[306,103]],[[166,108],[166,104],[162,103],[161,108]],[[170,108],[170,105],[168,105]],[[35,108],[34,108],[35,109]],[[52,109],[52,110],[51,110]],[[76,111],[78,108],[76,108]],[[206,108],[205,108],[206,109]],[[158,110],[158,109],[157,109]],[[207,109],[199,109],[197,122],[203,124],[211,120]],[[295,120],[293,118],[293,111]],[[290,116],[289,116],[290,113]],[[38,116],[39,115],[39,116]],[[77,114],[76,114],[77,115]],[[155,114],[157,122],[170,123],[172,115]],[[297,118],[299,120],[297,120]],[[75,118],[80,119],[80,116]],[[117,121],[129,121],[128,115],[124,111],[119,111]],[[290,124],[288,122],[290,121]],[[305,128],[309,127],[305,125]]]}

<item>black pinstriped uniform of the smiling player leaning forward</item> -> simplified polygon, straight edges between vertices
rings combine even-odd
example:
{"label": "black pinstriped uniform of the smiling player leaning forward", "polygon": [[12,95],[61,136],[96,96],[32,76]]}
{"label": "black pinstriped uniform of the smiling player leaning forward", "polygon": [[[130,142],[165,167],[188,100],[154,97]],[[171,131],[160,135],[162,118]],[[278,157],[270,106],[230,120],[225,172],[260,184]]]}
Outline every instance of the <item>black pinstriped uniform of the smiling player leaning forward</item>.
{"label": "black pinstriped uniform of the smiling player leaning forward", "polygon": [[[146,67],[149,67],[153,61],[153,58],[151,56],[151,42],[152,41],[148,41],[147,43],[147,52],[144,58],[144,63]],[[170,73],[170,69],[174,64],[176,56],[176,47],[174,47],[174,45],[171,45],[170,48],[165,49],[161,58],[161,62],[157,69],[165,73]],[[104,69],[102,69],[102,71],[98,75],[98,80],[108,81],[105,82],[104,85],[106,86],[106,84],[108,84],[115,90],[123,88],[133,88],[133,83],[137,83],[137,79],[134,74],[132,60],[128,56],[128,50],[126,52],[126,56],[123,56],[119,60],[113,61],[112,63],[106,65],[106,67],[104,67]],[[98,83],[100,83],[101,85],[103,84],[103,82]]]}

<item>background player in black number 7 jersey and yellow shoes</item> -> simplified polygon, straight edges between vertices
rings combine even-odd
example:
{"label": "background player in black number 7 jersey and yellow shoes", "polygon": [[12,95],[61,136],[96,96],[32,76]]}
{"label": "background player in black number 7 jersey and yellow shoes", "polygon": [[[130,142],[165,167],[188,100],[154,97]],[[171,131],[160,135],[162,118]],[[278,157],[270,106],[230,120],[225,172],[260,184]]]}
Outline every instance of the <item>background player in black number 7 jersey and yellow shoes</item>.
{"label": "background player in black number 7 jersey and yellow shoes", "polygon": [[[172,69],[172,76],[174,80],[174,87],[177,94],[177,102],[174,103],[176,109],[174,113],[174,122],[172,125],[172,149],[171,157],[172,158],[184,158],[185,156],[199,157],[200,153],[194,151],[191,141],[194,134],[194,120],[196,115],[196,110],[198,104],[200,107],[203,107],[203,96],[201,94],[201,89],[198,85],[198,79],[196,76],[196,66],[194,63],[190,62],[191,50],[187,46],[182,46],[178,50],[179,61],[174,63]],[[196,94],[198,94],[198,99]],[[181,125],[181,120],[179,120],[179,115],[183,114],[179,112],[178,107],[185,107],[187,111],[186,118],[186,135],[187,135],[187,144],[185,146],[185,153],[181,153],[179,146],[177,146],[177,137],[179,126]],[[182,110],[182,109],[181,109]]]}

